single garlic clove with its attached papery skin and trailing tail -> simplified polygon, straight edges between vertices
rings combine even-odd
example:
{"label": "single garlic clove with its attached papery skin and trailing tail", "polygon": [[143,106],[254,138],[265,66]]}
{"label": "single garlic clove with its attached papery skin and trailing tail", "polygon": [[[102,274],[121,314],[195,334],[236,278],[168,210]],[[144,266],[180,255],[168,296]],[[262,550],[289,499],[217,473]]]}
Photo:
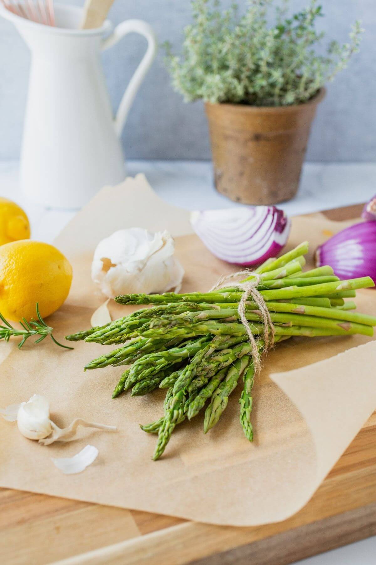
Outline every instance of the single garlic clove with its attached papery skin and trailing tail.
{"label": "single garlic clove with its attached papery skin and trailing tail", "polygon": [[[15,421],[14,407],[7,406],[1,411],[3,418]],[[7,417],[8,416],[8,417]],[[10,417],[12,419],[10,419]],[[50,419],[50,402],[41,394],[34,394],[28,402],[21,402],[17,411],[17,427],[23,436],[30,440],[38,440],[39,444],[50,445],[55,441],[70,441],[77,434],[78,426],[115,431],[116,426],[97,424],[82,418],[73,420],[67,428],[59,428]]]}

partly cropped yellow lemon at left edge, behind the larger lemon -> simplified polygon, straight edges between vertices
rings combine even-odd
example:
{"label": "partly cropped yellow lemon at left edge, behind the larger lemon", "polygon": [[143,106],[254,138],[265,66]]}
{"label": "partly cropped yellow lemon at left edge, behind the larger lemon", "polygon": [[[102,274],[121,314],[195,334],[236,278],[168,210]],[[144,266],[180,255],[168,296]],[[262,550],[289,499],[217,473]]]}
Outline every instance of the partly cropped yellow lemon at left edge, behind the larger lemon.
{"label": "partly cropped yellow lemon at left edge, behind the larger lemon", "polygon": [[0,197],[0,245],[30,237],[28,216],[15,202]]}

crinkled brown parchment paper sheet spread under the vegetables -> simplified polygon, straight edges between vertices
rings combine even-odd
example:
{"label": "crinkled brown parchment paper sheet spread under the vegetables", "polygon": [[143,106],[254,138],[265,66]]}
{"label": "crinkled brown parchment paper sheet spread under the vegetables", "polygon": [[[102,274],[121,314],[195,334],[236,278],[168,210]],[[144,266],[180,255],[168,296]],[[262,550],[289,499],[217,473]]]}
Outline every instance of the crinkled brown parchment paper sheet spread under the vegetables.
{"label": "crinkled brown parchment paper sheet spread under the vegetables", "polygon": [[[324,216],[295,218],[289,247],[308,239],[312,251],[343,223]],[[90,325],[103,302],[90,281],[98,241],[122,227],[169,229],[186,274],[184,290],[207,289],[232,267],[216,259],[192,234],[188,212],[166,205],[143,176],[103,189],[57,237],[73,265],[67,303],[49,318],[59,340]],[[376,291],[358,293],[360,311],[376,314]],[[112,305],[113,316],[130,307]],[[360,346],[360,347],[358,347]],[[65,351],[1,343],[0,405],[44,394],[52,419],[67,425],[80,416],[118,426],[117,432],[82,429],[79,439],[48,447],[26,440],[15,424],[0,421],[0,486],[170,514],[214,524],[258,525],[284,520],[304,506],[376,407],[376,343],[351,336],[294,338],[269,352],[254,386],[255,441],[244,437],[233,392],[219,423],[202,433],[202,414],[177,427],[163,458],[151,460],[156,438],[140,431],[162,414],[165,391],[112,400],[121,367],[83,372],[111,349],[74,344]],[[344,353],[343,353],[344,352]],[[99,457],[78,475],[63,475],[51,457],[70,457],[86,444]]]}

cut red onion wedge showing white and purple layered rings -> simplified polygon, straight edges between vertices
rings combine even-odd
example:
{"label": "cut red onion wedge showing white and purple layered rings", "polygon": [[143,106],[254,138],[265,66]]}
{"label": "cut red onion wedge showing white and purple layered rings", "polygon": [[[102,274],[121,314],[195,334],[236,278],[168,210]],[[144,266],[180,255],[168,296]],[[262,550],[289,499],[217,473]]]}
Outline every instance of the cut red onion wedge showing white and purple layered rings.
{"label": "cut red onion wedge showing white and purple layered rings", "polygon": [[275,206],[192,212],[191,223],[211,253],[242,266],[276,257],[290,233],[290,220]]}

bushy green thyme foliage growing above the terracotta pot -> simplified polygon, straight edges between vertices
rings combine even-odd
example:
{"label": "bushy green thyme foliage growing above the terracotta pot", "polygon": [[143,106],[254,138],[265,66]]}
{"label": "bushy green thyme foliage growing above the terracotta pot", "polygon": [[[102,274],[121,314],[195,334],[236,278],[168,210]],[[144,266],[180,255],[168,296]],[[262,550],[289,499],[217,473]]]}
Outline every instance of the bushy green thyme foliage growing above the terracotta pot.
{"label": "bushy green thyme foliage growing above the terracotta pot", "polygon": [[[316,29],[324,14],[318,0],[289,15],[290,0],[236,3],[192,0],[193,21],[184,28],[180,55],[166,42],[172,86],[186,102],[289,106],[311,99],[347,66],[364,31],[352,26],[349,41],[321,42]],[[273,17],[274,16],[274,17]]]}

